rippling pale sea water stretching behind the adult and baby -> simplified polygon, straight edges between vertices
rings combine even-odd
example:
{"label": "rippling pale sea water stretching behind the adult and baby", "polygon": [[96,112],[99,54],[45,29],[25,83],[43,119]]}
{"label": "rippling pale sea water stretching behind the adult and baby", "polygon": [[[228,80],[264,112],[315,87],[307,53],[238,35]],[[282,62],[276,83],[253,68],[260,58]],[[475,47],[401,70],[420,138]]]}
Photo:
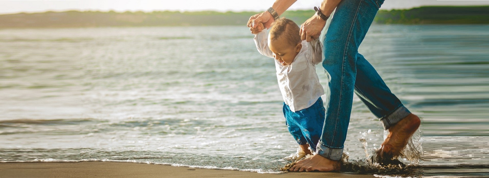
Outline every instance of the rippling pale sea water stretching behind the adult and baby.
{"label": "rippling pale sea water stretching behind the adult and baby", "polygon": [[[488,28],[372,25],[359,52],[422,125],[420,152],[400,159],[411,173],[368,174],[489,175]],[[0,162],[278,173],[298,145],[273,59],[252,39],[244,26],[2,29]],[[348,161],[364,163],[384,135],[355,96]]]}

